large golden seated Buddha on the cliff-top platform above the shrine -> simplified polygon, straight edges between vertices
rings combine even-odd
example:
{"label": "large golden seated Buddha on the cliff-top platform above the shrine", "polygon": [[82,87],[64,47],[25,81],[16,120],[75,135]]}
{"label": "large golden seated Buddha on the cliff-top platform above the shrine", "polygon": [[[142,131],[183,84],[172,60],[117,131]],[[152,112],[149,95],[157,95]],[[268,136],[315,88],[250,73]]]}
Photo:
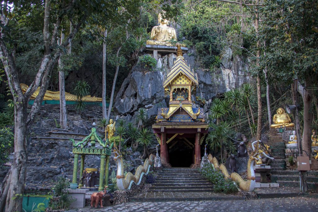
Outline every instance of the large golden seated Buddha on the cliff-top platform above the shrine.
{"label": "large golden seated Buddha on the cliff-top platform above the shrine", "polygon": [[162,15],[158,15],[158,26],[154,26],[151,30],[150,39],[146,44],[172,46],[170,40],[177,41],[176,30],[168,26],[169,21],[162,19]]}

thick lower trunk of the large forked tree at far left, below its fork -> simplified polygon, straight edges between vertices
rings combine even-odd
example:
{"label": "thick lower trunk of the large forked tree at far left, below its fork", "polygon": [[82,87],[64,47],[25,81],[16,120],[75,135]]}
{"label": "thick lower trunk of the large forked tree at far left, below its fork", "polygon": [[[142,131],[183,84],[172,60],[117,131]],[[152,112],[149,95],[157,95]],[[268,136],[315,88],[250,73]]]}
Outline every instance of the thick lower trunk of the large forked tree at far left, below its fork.
{"label": "thick lower trunk of the large forked tree at far left, below its fork", "polygon": [[[24,194],[24,183],[27,164],[27,104],[28,99],[20,97],[15,104],[14,125],[14,158],[10,168],[10,185],[6,197],[5,211],[22,211],[22,195]],[[12,198],[16,196],[17,198]]]}

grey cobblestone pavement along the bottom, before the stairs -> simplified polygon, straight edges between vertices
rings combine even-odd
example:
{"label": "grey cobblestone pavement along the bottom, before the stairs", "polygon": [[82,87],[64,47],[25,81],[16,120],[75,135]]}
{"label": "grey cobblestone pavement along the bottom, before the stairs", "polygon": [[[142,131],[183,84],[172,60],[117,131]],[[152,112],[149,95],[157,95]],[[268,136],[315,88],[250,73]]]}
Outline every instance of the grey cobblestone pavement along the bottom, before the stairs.
{"label": "grey cobblestone pavement along the bottom, before the stairs", "polygon": [[236,201],[201,201],[201,202],[127,202],[120,205],[109,206],[102,209],[86,207],[79,210],[83,212],[174,212],[174,211],[248,211],[248,212],[309,212],[318,211],[318,201],[306,197],[273,198],[258,200]]}

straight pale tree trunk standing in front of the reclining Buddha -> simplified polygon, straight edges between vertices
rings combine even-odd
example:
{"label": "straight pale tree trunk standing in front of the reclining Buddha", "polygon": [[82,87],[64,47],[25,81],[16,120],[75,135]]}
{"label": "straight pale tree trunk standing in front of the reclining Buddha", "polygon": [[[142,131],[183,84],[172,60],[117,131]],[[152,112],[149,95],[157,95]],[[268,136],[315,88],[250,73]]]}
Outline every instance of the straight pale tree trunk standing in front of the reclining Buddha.
{"label": "straight pale tree trunk standing in front of the reclining Buddha", "polygon": [[[65,34],[62,29],[61,32],[61,40],[58,41],[58,44],[61,45]],[[60,56],[62,53],[60,54]],[[59,93],[60,93],[60,128],[66,129],[67,128],[67,116],[66,116],[66,100],[65,100],[65,74],[63,71],[63,64],[62,59],[59,57]]]}

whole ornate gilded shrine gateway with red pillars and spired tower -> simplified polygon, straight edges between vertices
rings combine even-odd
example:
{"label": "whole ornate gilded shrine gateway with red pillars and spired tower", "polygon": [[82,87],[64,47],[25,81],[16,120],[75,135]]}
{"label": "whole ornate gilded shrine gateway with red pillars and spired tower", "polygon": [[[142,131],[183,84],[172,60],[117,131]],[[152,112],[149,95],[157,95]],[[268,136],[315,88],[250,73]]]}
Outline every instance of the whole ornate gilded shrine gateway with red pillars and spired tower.
{"label": "whole ornate gilded shrine gateway with red pillars and spired tower", "polygon": [[169,108],[158,109],[152,128],[160,144],[162,165],[184,166],[183,160],[191,160],[189,166],[196,167],[200,164],[200,146],[208,133],[208,125],[203,108],[192,107],[191,95],[198,86],[197,74],[184,60],[181,45],[176,46],[177,58],[163,82],[165,92],[170,95]]}

